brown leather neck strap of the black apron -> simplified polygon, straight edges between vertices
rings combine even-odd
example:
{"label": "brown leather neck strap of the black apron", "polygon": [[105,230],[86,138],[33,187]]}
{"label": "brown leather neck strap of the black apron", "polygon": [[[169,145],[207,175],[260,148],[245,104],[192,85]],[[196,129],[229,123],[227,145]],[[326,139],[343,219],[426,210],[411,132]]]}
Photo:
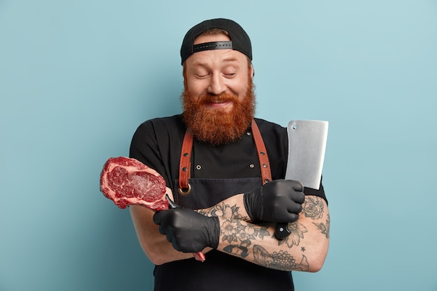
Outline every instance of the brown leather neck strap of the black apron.
{"label": "brown leather neck strap of the black apron", "polygon": [[[252,134],[255,141],[255,147],[260,161],[262,185],[272,181],[272,172],[270,171],[269,156],[265,149],[264,141],[262,140],[260,129],[252,119]],[[189,128],[186,129],[184,142],[182,142],[181,158],[179,160],[179,193],[187,195],[191,191],[191,186],[188,183],[191,172],[191,150],[193,148],[193,133]]]}

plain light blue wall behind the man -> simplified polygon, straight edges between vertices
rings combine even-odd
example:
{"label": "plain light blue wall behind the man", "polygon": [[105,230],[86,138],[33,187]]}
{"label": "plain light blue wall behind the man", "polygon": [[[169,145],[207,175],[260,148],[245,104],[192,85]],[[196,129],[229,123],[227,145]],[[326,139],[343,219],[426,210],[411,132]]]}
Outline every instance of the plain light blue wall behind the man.
{"label": "plain light blue wall behind the man", "polygon": [[180,112],[212,17],[251,36],[258,117],[329,121],[331,246],[297,290],[437,290],[436,0],[0,0],[0,290],[151,290],[98,178]]}

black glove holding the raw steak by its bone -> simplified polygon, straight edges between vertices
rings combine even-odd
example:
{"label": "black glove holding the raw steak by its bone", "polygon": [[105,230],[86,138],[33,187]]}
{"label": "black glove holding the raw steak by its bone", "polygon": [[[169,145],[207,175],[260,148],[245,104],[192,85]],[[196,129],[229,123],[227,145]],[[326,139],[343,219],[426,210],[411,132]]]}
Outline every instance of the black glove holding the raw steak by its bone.
{"label": "black glove holding the raw steak by its bone", "polygon": [[159,232],[166,234],[177,251],[196,253],[207,246],[218,246],[220,227],[216,216],[208,217],[191,209],[177,208],[156,212],[154,223],[159,225]]}

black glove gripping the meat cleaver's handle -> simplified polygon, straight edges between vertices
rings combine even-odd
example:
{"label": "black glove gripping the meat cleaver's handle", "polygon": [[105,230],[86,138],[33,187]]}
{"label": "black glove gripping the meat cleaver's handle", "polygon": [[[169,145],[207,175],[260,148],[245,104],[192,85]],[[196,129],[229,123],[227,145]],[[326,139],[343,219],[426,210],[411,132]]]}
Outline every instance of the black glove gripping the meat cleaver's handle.
{"label": "black glove gripping the meat cleaver's handle", "polygon": [[253,222],[295,222],[304,201],[304,186],[293,180],[270,181],[244,193],[244,207]]}

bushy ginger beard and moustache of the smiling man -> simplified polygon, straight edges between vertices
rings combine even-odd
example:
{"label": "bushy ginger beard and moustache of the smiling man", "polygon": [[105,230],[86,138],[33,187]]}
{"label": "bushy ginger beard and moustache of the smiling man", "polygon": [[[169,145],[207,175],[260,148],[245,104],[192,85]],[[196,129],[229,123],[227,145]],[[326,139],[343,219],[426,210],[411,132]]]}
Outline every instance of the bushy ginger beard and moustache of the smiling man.
{"label": "bushy ginger beard and moustache of the smiling man", "polygon": [[[193,101],[186,86],[186,81],[184,81],[185,89],[182,92],[184,122],[201,142],[216,146],[235,142],[251,124],[255,114],[255,94],[251,77],[249,77],[246,96],[243,100],[239,100],[234,94],[207,94]],[[234,106],[230,112],[210,109],[205,103],[212,100],[232,101]]]}

